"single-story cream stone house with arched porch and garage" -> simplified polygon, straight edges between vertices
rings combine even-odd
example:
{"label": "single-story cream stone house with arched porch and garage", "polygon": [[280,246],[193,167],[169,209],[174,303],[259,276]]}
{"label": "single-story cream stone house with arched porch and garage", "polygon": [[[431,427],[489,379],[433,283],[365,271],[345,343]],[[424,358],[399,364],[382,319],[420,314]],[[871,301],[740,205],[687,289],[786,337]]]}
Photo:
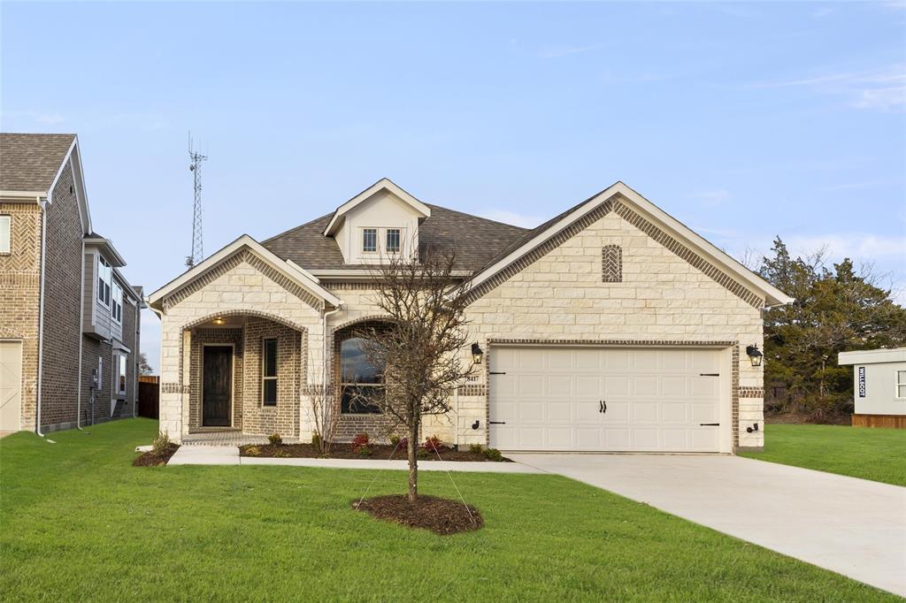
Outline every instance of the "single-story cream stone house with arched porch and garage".
{"label": "single-story cream stone house with arched porch and garage", "polygon": [[[532,230],[382,179],[330,215],[243,235],[149,296],[160,426],[307,440],[309,394],[373,377],[375,264],[455,249],[477,378],[424,434],[504,450],[732,452],[764,443],[762,310],[783,292],[618,182]],[[341,394],[342,396],[342,394]],[[342,402],[341,435],[388,436]]]}

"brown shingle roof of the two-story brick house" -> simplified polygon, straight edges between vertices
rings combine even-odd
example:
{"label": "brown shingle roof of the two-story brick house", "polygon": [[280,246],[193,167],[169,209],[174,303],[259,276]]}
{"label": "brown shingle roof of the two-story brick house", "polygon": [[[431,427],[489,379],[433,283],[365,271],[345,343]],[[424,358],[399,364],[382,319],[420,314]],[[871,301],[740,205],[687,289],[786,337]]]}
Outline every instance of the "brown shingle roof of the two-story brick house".
{"label": "brown shingle roof of the two-story brick house", "polygon": [[47,192],[75,134],[0,133],[0,190]]}

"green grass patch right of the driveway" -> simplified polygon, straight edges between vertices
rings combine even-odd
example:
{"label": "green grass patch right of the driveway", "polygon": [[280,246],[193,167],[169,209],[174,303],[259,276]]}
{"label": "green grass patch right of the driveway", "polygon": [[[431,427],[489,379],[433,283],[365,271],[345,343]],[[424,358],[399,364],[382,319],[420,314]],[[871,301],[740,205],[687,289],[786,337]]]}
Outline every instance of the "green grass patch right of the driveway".
{"label": "green grass patch right of the driveway", "polygon": [[768,425],[765,452],[742,456],[906,486],[906,429]]}

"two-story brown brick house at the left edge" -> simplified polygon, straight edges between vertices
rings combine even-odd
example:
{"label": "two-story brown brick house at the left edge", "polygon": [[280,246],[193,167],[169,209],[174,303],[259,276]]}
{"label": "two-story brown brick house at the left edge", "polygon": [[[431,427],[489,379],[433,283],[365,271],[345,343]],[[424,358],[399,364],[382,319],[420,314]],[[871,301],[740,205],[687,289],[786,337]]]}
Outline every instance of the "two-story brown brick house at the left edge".
{"label": "two-story brown brick house at the left edge", "polygon": [[74,134],[0,134],[0,430],[132,416],[140,288],[92,232]]}

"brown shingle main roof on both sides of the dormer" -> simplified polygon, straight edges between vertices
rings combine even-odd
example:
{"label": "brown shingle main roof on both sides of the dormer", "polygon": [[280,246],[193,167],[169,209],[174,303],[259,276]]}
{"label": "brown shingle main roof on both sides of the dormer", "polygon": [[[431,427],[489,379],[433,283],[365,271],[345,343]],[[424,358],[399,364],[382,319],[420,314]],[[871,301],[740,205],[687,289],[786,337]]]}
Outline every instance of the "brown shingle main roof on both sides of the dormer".
{"label": "brown shingle main roof on both sides of the dormer", "polygon": [[[419,251],[454,251],[456,268],[473,272],[481,268],[509,244],[524,235],[525,228],[503,224],[425,204],[430,217],[419,226]],[[374,266],[343,262],[342,252],[333,237],[324,236],[333,214],[322,215],[262,242],[274,254],[292,260],[311,271],[368,270]]]}

